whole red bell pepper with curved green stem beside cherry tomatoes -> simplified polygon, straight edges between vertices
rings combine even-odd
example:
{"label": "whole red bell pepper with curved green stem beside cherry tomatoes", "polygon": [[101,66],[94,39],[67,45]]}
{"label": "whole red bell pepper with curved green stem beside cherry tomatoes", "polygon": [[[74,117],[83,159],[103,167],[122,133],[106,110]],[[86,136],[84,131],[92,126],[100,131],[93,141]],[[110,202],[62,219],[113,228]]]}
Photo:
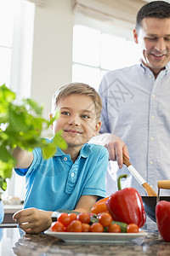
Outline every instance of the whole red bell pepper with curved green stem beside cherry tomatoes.
{"label": "whole red bell pepper with curved green stem beside cherry tomatoes", "polygon": [[137,224],[140,228],[144,225],[146,219],[142,198],[136,189],[121,188],[122,177],[127,177],[127,175],[123,174],[118,177],[119,191],[109,197],[106,201],[106,207],[114,220],[126,224]]}

